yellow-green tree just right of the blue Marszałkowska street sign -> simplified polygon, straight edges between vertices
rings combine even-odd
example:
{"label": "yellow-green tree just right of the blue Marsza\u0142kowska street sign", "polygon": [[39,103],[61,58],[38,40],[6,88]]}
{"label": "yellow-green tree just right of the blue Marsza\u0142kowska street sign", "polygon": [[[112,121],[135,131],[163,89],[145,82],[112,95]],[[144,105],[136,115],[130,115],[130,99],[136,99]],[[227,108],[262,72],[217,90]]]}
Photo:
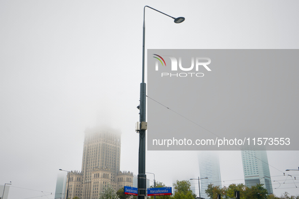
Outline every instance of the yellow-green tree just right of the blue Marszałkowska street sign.
{"label": "yellow-green tree just right of the blue Marsza\u0142kowska street sign", "polygon": [[196,194],[190,189],[191,183],[188,180],[177,180],[175,186],[175,199],[195,199]]}

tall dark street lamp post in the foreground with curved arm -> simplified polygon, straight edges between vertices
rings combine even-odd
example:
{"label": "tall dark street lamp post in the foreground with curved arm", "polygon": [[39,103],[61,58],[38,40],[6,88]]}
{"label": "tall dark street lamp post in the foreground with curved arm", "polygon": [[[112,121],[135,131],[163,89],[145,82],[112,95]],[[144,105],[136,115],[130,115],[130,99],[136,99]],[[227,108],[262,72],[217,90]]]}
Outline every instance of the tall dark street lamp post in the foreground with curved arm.
{"label": "tall dark street lamp post in the foreground with curved arm", "polygon": [[[144,82],[145,76],[145,8],[150,8],[154,11],[157,11],[163,15],[162,13],[156,9],[153,9],[149,6],[145,6],[143,9],[143,48],[142,48],[142,83],[140,84],[140,106],[139,106],[139,160],[138,160],[138,199],[144,199],[146,196],[146,174],[145,174],[145,131],[147,129],[146,124],[146,83]],[[184,17],[172,17],[166,15],[170,18],[173,18],[175,23],[182,23],[185,18]]]}

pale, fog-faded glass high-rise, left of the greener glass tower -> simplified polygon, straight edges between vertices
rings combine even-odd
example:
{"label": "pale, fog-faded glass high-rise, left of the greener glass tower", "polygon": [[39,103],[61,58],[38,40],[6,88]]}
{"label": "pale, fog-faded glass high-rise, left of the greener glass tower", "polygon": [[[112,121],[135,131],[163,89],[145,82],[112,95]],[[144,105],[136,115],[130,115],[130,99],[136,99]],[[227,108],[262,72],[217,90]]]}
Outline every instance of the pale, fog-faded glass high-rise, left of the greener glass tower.
{"label": "pale, fog-faded glass high-rise, left of the greener glass tower", "polygon": [[200,197],[209,198],[205,193],[208,184],[221,187],[221,174],[219,157],[215,151],[198,152],[199,178],[207,178],[200,180]]}

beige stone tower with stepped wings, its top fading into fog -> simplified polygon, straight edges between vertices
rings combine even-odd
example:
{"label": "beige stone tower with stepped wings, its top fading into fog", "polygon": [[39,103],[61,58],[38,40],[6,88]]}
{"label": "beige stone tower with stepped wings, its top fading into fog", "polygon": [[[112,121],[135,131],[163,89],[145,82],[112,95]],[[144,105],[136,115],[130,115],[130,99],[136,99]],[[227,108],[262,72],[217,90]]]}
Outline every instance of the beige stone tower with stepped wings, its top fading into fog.
{"label": "beige stone tower with stepped wings, its top fading into fog", "polygon": [[[69,198],[97,199],[107,184],[116,191],[133,186],[133,173],[119,170],[120,140],[120,132],[111,129],[86,129],[81,172],[71,171],[66,178]],[[66,198],[67,184],[61,198]]]}

